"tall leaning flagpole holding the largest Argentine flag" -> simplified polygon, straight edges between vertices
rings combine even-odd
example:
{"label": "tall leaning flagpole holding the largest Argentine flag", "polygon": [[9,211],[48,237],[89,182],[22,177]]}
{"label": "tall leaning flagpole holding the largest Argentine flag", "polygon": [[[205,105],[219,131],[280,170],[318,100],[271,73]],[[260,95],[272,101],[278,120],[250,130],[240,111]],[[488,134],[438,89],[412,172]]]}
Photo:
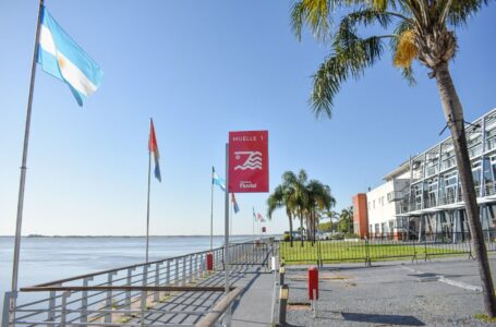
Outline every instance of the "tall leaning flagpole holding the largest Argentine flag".
{"label": "tall leaning flagpole holding the largest Argentine flag", "polygon": [[29,82],[29,95],[27,98],[27,111],[26,111],[26,125],[24,130],[24,145],[23,145],[23,158],[21,164],[21,179],[19,183],[19,199],[17,199],[17,216],[15,222],[15,241],[14,241],[14,258],[12,265],[12,298],[10,301],[10,319],[11,324],[15,318],[15,304],[17,298],[17,277],[19,277],[19,258],[21,250],[21,229],[23,220],[23,209],[24,209],[24,189],[26,185],[26,170],[27,170],[27,148],[29,144],[29,129],[31,129],[31,117],[33,109],[33,93],[35,89],[35,78],[36,78],[36,58],[38,55],[38,44],[39,44],[39,31],[40,31],[40,21],[41,21],[41,8],[44,5],[44,0],[39,0],[38,5],[38,20],[36,24],[36,36],[35,36],[35,49],[33,51],[33,61],[31,66],[31,82]]}

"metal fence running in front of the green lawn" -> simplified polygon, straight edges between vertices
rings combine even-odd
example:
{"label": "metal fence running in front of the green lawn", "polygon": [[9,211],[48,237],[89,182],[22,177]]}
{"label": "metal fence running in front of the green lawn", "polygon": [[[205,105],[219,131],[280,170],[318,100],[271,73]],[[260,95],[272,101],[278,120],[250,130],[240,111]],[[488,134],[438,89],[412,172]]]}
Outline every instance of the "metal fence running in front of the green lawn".
{"label": "metal fence running in front of the green lawn", "polygon": [[[496,232],[484,230],[488,252],[496,251]],[[412,261],[432,256],[463,255],[472,256],[469,232],[422,232],[421,237],[406,232],[380,233],[371,239],[343,239],[295,241],[279,243],[280,257],[285,263],[317,264],[364,262],[395,258]]]}

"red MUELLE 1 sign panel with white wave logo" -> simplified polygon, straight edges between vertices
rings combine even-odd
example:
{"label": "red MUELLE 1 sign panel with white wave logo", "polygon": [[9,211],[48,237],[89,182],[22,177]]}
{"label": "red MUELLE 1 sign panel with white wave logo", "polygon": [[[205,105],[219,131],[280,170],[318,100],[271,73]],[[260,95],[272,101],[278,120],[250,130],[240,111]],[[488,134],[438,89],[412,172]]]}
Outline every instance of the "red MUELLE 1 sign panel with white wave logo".
{"label": "red MUELLE 1 sign panel with white wave logo", "polygon": [[268,192],[268,132],[229,132],[229,192]]}

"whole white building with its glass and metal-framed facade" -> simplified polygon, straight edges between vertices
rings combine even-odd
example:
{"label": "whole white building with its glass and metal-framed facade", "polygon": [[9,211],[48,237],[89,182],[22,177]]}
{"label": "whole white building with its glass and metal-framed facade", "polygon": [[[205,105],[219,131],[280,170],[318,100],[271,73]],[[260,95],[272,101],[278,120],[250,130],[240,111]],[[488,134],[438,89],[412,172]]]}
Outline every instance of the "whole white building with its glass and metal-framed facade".
{"label": "whole white building with its glass and metal-framed facade", "polygon": [[[487,234],[495,227],[496,108],[465,126],[472,175]],[[451,136],[411,157],[366,193],[371,238],[425,239],[469,231]],[[363,218],[360,217],[361,219]],[[363,223],[363,222],[362,222]]]}

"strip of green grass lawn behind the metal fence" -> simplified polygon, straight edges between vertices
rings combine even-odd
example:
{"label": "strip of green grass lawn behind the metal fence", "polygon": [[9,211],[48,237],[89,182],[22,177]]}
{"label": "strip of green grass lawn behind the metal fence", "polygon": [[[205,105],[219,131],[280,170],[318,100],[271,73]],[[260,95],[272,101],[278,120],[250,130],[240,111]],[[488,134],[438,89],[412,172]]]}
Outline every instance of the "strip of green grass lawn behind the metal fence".
{"label": "strip of green grass lawn behind the metal fence", "polygon": [[324,262],[365,262],[385,261],[395,258],[424,258],[428,255],[461,254],[468,252],[467,244],[408,244],[391,242],[386,244],[365,244],[365,241],[325,241],[320,244],[312,242],[279,243],[280,257],[290,264]]}

